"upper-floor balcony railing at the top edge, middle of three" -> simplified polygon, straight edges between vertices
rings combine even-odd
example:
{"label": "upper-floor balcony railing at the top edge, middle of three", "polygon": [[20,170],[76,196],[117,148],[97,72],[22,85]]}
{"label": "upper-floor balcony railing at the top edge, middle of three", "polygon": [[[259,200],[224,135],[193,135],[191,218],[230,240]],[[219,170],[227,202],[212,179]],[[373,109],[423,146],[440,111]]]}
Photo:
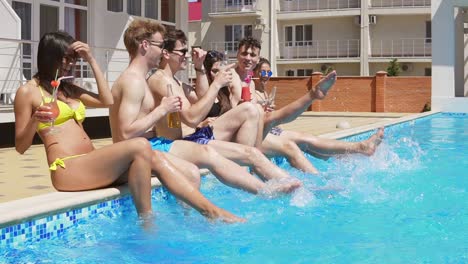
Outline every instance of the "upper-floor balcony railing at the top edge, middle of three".
{"label": "upper-floor balcony railing at the top edge, middle of three", "polygon": [[309,11],[360,8],[361,0],[281,0],[280,11]]}

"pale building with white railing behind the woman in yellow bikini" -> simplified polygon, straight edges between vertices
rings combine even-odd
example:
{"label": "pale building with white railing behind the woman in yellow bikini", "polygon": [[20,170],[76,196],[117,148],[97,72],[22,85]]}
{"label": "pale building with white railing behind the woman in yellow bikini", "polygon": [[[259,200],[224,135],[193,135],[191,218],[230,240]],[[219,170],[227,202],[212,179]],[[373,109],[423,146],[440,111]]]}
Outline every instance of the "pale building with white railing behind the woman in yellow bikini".
{"label": "pale building with white railing behind the woman in yellow bikini", "polygon": [[[187,30],[187,13],[187,1],[0,0],[0,123],[13,121],[14,94],[36,72],[37,46],[44,33],[64,30],[87,42],[112,84],[128,65],[123,33],[135,17]],[[78,62],[75,70],[75,81],[96,89],[86,62]],[[103,116],[107,110],[91,109],[87,114]]]}

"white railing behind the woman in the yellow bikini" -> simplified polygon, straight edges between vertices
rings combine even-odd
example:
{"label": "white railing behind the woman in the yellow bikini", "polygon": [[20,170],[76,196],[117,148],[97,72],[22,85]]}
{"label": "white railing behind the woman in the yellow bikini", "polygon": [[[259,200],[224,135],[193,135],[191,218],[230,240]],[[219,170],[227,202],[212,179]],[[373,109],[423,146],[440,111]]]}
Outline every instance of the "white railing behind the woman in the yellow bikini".
{"label": "white railing behind the woman in the yellow bikini", "polygon": [[[37,72],[37,41],[0,38],[0,105],[11,105],[16,90]],[[91,47],[110,85],[128,66],[129,57],[124,49]],[[97,91],[93,73],[87,62],[76,62],[75,82],[80,86]]]}

